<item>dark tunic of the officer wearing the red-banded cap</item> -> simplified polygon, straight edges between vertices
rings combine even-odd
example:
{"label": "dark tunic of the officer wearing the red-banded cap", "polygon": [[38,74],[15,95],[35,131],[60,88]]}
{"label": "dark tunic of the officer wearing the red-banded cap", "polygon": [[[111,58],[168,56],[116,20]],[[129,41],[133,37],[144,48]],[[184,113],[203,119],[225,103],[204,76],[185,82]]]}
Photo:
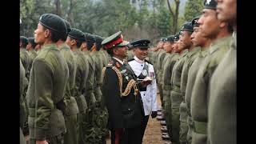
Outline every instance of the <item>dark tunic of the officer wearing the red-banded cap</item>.
{"label": "dark tunic of the officer wearing the red-banded cap", "polygon": [[[127,65],[127,66],[125,66]],[[108,127],[111,130],[111,141],[114,143],[114,132],[121,130],[119,143],[137,144],[141,142],[141,125],[143,117],[142,98],[139,94],[134,95],[131,88],[130,94],[126,97],[120,94],[117,73],[112,69],[115,66],[122,74],[122,92],[126,89],[128,82],[135,79],[134,72],[128,64],[122,65],[112,58],[112,62],[106,67],[102,86],[102,94],[106,108],[109,113]]]}

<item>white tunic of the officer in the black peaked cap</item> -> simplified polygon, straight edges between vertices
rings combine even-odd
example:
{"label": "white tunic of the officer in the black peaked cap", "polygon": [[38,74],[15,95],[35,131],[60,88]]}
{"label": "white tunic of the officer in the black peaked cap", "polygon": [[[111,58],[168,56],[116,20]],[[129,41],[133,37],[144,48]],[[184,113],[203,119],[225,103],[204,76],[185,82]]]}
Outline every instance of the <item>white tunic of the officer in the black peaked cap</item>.
{"label": "white tunic of the officer in the black peaked cap", "polygon": [[148,62],[142,61],[134,56],[134,60],[128,62],[134,74],[138,77],[142,73],[144,65],[149,66],[148,76],[154,77],[152,83],[146,86],[146,91],[141,91],[142,102],[145,115],[150,115],[151,111],[157,111],[157,83],[155,80],[154,67]]}

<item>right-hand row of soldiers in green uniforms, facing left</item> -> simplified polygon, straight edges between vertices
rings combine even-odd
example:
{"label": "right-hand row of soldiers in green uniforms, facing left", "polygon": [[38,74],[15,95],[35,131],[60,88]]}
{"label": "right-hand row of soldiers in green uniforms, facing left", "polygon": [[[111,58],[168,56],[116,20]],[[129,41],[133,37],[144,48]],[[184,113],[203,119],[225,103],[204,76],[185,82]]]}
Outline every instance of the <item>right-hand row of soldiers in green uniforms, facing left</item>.
{"label": "right-hand row of soldiers in green uniforms, facing left", "polygon": [[218,2],[205,1],[201,16],[149,53],[162,138],[175,144],[236,143],[236,1]]}

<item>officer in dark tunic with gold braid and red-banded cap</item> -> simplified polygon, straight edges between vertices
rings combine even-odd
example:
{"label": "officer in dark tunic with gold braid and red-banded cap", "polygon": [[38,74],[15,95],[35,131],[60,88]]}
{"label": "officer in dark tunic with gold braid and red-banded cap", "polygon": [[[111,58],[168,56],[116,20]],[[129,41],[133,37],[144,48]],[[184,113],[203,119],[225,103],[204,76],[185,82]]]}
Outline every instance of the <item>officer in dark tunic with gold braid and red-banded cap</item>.
{"label": "officer in dark tunic with gold braid and red-banded cap", "polygon": [[[102,94],[109,112],[108,127],[111,130],[112,144],[142,143],[142,98],[138,91],[137,77],[129,64],[124,62],[128,43],[123,40],[121,31],[102,42],[112,57],[102,72]],[[141,85],[146,86],[146,82]]]}

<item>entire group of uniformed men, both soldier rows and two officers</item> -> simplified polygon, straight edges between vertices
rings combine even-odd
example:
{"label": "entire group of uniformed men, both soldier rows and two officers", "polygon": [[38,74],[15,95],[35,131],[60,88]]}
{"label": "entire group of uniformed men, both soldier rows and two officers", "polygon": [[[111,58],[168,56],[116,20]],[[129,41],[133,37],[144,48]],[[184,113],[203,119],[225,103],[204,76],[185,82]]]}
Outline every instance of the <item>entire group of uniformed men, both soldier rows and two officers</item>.
{"label": "entire group of uniformed men, both soldier rows and two officers", "polygon": [[111,143],[142,143],[154,86],[166,143],[236,143],[236,0],[206,0],[178,34],[149,43],[42,14],[34,38],[20,37],[21,143],[102,144],[109,130]]}

